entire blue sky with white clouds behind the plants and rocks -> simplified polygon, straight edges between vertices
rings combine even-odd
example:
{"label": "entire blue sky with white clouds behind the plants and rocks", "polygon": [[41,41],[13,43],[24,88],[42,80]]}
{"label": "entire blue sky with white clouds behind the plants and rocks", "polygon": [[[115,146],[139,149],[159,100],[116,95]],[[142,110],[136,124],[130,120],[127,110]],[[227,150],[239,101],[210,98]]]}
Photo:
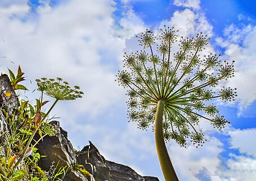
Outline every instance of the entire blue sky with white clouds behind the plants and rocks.
{"label": "entire blue sky with white clouds behind the plants and rocks", "polygon": [[[0,71],[22,67],[30,92],[35,79],[62,77],[80,85],[84,97],[59,102],[53,114],[75,149],[88,140],[106,160],[128,165],[141,175],[164,180],[153,132],[128,123],[125,90],[117,85],[123,51],[140,47],[135,35],[146,28],[174,25],[180,36],[204,32],[211,37],[206,53],[236,61],[236,102],[215,102],[231,124],[213,130],[206,120],[202,148],[167,144],[180,180],[226,181],[256,178],[256,3],[253,0],[0,0]],[[47,97],[45,97],[47,98]],[[47,98],[50,100],[50,98]],[[35,101],[31,102],[35,104]]]}

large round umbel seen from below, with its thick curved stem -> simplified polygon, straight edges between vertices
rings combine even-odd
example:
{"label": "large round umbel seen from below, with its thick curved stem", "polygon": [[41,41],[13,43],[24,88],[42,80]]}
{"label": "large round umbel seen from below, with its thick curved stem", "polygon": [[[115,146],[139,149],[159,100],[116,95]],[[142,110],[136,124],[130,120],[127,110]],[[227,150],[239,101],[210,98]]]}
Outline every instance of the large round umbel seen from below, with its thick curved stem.
{"label": "large round umbel seen from below, with its thick curved stem", "polygon": [[[198,129],[206,119],[221,130],[226,123],[214,100],[234,101],[236,89],[219,88],[220,83],[234,76],[234,62],[221,63],[220,55],[202,51],[208,45],[203,33],[181,37],[180,49],[171,54],[178,36],[173,27],[165,27],[138,35],[142,50],[124,55],[124,70],[117,81],[125,89],[128,117],[138,128],[155,132],[156,149],[165,180],[178,180],[170,162],[165,141],[174,140],[181,146],[189,143],[202,146],[206,139]],[[155,52],[156,51],[156,52]]]}

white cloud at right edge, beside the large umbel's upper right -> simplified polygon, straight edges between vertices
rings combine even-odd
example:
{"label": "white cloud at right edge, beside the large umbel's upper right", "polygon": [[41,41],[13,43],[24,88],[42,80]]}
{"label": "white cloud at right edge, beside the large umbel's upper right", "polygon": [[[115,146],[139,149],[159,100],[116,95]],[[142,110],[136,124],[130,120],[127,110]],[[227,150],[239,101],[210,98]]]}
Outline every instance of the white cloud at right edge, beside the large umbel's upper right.
{"label": "white cloud at right edge, beside the large umbel's upper right", "polygon": [[238,88],[238,115],[243,115],[243,110],[256,100],[256,27],[249,24],[238,28],[232,24],[224,30],[224,37],[216,41],[225,49],[224,58],[236,61],[236,76],[228,86]]}

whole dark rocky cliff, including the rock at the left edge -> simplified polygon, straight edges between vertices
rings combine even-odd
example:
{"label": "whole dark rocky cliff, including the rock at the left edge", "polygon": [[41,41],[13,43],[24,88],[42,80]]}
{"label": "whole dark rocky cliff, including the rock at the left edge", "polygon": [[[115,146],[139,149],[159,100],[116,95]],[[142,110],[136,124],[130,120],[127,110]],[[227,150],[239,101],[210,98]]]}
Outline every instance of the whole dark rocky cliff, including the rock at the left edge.
{"label": "whole dark rocky cliff, including the rock at the left edge", "polygon": [[[11,96],[6,96],[10,92]],[[6,120],[12,117],[12,121],[18,120],[20,114],[20,105],[18,96],[16,96],[7,75],[0,76],[0,145],[4,148],[4,143],[8,141],[8,135],[12,135]],[[5,115],[2,110],[5,110]],[[18,111],[17,111],[18,110]],[[89,145],[84,146],[80,151],[75,151],[70,141],[67,139],[67,132],[59,126],[59,122],[53,121],[57,133],[54,136],[45,136],[37,144],[37,152],[41,158],[38,162],[42,170],[49,171],[52,163],[56,164],[56,170],[61,167],[67,168],[67,173],[63,180],[65,181],[157,181],[159,179],[152,176],[141,176],[129,166],[114,163],[105,160],[99,150],[89,141]],[[39,140],[36,135],[34,140]],[[0,146],[1,147],[1,146]],[[0,154],[5,155],[6,150],[0,149]],[[15,153],[11,153],[13,156]],[[1,180],[1,178],[0,178]]]}

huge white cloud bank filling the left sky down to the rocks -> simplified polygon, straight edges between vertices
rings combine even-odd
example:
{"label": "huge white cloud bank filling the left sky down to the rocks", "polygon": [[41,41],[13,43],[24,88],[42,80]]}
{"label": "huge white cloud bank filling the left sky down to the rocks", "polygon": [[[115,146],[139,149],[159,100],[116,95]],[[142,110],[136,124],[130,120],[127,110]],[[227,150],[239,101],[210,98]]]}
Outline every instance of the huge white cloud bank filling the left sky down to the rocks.
{"label": "huge white cloud bank filling the left sky down to the rocks", "polygon": [[[80,85],[83,99],[58,102],[53,110],[74,146],[88,144],[90,139],[109,160],[138,167],[131,161],[147,160],[155,154],[155,146],[134,124],[127,126],[126,111],[121,120],[114,118],[125,104],[125,92],[114,80],[122,66],[125,39],[144,26],[128,6],[117,26],[114,5],[113,1],[75,0],[50,8],[48,1],[37,8],[35,19],[26,21],[9,19],[7,15],[16,10],[5,8],[6,18],[0,19],[5,40],[0,42],[0,54],[6,58],[0,70],[16,71],[20,64],[28,80],[63,77],[71,85]],[[28,15],[29,8],[22,12]],[[35,89],[35,83],[28,88]],[[29,93],[26,96],[31,98]],[[99,121],[103,117],[109,120]]]}

